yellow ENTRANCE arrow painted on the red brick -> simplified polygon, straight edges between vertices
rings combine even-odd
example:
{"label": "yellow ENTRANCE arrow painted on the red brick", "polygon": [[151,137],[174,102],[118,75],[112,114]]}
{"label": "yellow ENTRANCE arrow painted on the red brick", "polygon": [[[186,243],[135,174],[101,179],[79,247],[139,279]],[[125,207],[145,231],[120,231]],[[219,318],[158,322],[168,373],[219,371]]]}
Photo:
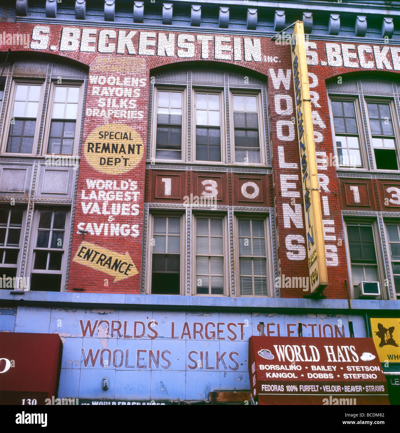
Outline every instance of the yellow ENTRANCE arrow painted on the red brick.
{"label": "yellow ENTRANCE arrow painted on the red brick", "polygon": [[81,243],[74,262],[115,277],[114,283],[139,273],[128,252],[119,254],[90,242]]}

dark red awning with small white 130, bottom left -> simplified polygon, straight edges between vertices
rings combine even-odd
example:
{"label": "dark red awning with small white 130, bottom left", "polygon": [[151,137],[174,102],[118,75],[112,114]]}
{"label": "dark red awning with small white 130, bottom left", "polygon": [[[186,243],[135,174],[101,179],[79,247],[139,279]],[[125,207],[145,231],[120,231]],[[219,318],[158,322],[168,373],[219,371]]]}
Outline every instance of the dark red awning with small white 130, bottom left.
{"label": "dark red awning with small white 130, bottom left", "polygon": [[0,404],[45,404],[57,397],[61,349],[58,334],[1,332]]}

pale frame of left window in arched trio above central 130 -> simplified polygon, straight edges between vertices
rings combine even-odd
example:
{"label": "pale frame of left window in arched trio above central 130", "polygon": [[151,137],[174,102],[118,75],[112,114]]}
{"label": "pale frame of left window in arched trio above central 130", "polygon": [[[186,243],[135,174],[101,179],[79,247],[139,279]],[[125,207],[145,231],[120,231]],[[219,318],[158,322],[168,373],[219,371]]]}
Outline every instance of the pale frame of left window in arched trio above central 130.
{"label": "pale frame of left window in arched trio above central 130", "polygon": [[[177,91],[182,93],[182,136],[181,136],[181,146],[182,146],[182,158],[181,159],[161,159],[155,157],[156,145],[157,145],[157,109],[158,109],[158,92],[159,91]],[[152,161],[156,162],[168,162],[170,164],[175,164],[179,162],[186,162],[187,152],[186,152],[186,140],[187,136],[187,88],[186,86],[166,86],[166,85],[155,85],[153,92],[153,107],[152,107],[152,134],[151,134],[151,154],[150,158]]]}

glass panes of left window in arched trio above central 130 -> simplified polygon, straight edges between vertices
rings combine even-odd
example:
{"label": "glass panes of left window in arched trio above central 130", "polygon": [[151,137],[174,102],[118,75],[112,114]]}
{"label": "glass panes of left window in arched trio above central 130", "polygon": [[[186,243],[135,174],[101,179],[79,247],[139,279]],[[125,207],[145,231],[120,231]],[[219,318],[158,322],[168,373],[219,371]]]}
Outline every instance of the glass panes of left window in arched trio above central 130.
{"label": "glass panes of left window in arched trio above central 130", "polygon": [[183,92],[158,90],[155,157],[182,159]]}

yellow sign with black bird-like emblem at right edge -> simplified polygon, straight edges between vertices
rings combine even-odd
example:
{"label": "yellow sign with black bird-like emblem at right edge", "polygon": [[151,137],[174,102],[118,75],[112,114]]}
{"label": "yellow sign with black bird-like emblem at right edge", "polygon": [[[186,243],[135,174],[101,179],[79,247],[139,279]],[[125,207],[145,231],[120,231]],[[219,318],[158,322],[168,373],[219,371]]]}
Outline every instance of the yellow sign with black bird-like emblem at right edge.
{"label": "yellow sign with black bird-like emblem at right edge", "polygon": [[372,338],[381,362],[400,362],[400,317],[370,318]]}

